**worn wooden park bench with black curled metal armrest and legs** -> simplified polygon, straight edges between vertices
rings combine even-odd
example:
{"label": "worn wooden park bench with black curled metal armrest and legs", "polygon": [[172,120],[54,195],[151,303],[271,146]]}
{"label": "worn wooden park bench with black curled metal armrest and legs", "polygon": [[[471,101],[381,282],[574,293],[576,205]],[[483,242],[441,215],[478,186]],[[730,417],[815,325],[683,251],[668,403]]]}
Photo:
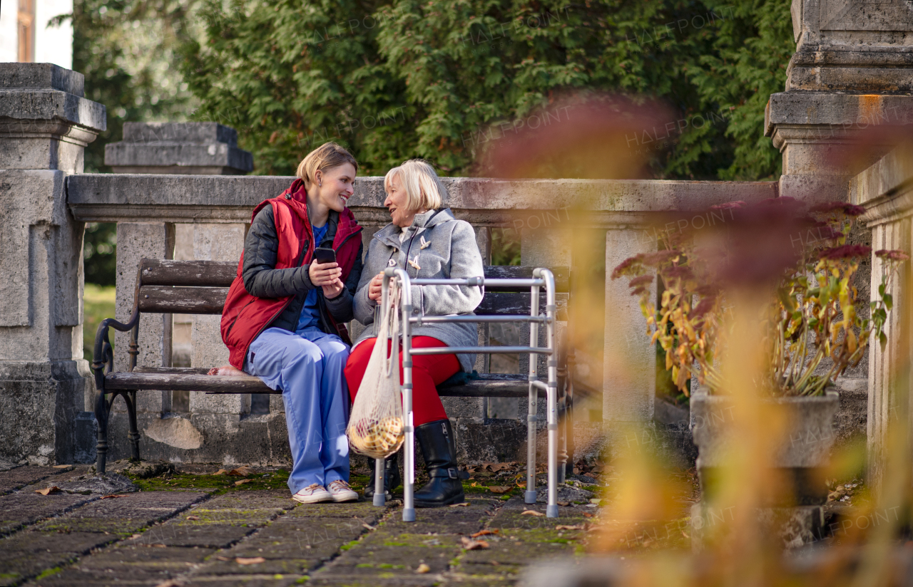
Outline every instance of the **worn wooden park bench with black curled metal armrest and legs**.
{"label": "worn wooden park bench with black curled metal armrest and legs", "polygon": [[[569,270],[554,267],[559,320],[567,319],[569,297]],[[99,325],[95,337],[95,355],[92,371],[95,375],[95,417],[99,425],[97,446],[98,474],[105,472],[108,454],[108,417],[114,400],[121,396],[127,405],[130,432],[127,438],[131,445],[131,458],[140,458],[140,433],[136,424],[136,392],[142,390],[203,391],[210,394],[281,394],[270,389],[255,376],[210,376],[207,367],[138,367],[139,355],[137,337],[142,314],[222,314],[228,288],[234,281],[237,263],[216,261],[161,261],[143,259],[140,263],[134,293],[133,312],[130,321],[122,324],[113,318],[106,318]],[[486,278],[530,278],[532,267],[487,265]],[[540,306],[545,306],[544,293]],[[530,292],[517,288],[491,290],[486,288],[485,297],[476,314],[504,315],[529,314]],[[113,352],[110,345],[110,328],[130,332],[127,353],[130,355],[129,371],[114,372]],[[559,345],[559,414],[561,416],[561,437],[567,438],[559,451],[560,480],[571,472],[573,459],[573,438],[565,430],[572,422],[572,384],[567,370],[566,344]],[[438,387],[440,396],[447,397],[527,397],[529,383],[526,375],[478,374],[456,385],[447,382]],[[544,392],[540,392],[544,396]]]}

